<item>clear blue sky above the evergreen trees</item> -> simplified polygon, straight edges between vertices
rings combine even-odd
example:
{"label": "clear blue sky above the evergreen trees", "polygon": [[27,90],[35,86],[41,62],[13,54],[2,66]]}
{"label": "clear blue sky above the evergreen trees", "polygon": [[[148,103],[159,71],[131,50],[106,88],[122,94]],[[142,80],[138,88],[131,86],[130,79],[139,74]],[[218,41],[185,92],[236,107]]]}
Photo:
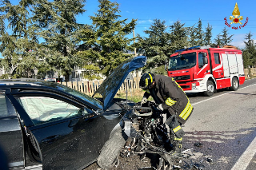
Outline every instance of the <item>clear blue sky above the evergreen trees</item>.
{"label": "clear blue sky above the evergreen trees", "polygon": [[[15,4],[18,0],[10,0],[10,2]],[[245,35],[250,31],[254,34],[253,38],[256,40],[255,0],[116,0],[115,2],[119,4],[122,19],[128,18],[128,22],[132,18],[138,19],[135,34],[141,34],[142,36],[146,36],[143,30],[147,30],[150,27],[154,18],[166,21],[167,26],[170,26],[177,20],[185,23],[185,26],[193,26],[200,18],[203,28],[207,26],[208,22],[213,26],[213,39],[226,27],[229,30],[229,34],[234,34],[232,45],[243,48]],[[242,24],[246,22],[246,18],[249,18],[246,26],[238,30],[234,30],[231,27],[241,26],[240,24],[232,24],[229,28],[225,25],[224,21],[224,18],[227,18],[230,23],[229,18],[232,15],[236,2],[238,2],[240,15],[244,18],[241,21]],[[87,0],[85,9],[86,12],[78,16],[78,22],[91,24],[90,16],[94,16],[94,13],[97,13],[98,1]],[[132,37],[132,34],[130,37]]]}

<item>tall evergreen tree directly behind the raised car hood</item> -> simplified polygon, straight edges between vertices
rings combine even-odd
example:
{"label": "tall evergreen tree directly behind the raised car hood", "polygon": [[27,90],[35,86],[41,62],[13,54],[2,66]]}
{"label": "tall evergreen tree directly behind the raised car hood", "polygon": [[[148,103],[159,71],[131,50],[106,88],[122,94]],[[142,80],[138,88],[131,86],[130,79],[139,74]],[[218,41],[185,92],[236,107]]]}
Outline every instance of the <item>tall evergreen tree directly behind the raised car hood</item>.
{"label": "tall evergreen tree directly behind the raised car hood", "polygon": [[[134,30],[136,20],[126,23],[127,19],[120,20],[118,3],[109,0],[99,0],[99,10],[95,16],[91,16],[93,27],[87,26],[82,30],[80,38],[87,46],[79,55],[87,61],[86,66],[93,69],[93,73],[108,75],[122,61],[131,55],[124,52],[129,49],[133,38],[127,38]],[[91,66],[93,65],[93,66]]]}

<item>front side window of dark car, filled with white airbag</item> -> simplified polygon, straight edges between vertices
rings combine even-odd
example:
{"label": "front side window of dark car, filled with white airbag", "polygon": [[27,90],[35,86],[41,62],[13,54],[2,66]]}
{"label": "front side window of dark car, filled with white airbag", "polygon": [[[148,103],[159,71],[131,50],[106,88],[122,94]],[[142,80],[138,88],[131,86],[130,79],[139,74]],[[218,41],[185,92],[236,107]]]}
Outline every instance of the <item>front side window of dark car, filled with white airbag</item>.
{"label": "front side window of dark car, filled with white airbag", "polygon": [[34,125],[76,117],[86,112],[65,101],[50,97],[19,97],[18,101]]}

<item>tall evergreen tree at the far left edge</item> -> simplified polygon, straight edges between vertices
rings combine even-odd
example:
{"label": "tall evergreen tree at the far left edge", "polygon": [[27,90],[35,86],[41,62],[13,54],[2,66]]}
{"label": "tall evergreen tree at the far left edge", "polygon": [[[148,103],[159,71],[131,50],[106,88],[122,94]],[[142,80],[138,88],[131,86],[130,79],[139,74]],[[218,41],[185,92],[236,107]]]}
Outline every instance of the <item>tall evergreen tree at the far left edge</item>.
{"label": "tall evergreen tree at the far left edge", "polygon": [[[34,76],[38,65],[38,38],[31,25],[30,7],[32,0],[21,0],[14,6],[10,1],[2,1],[0,7],[0,52],[6,69],[22,77]],[[4,21],[7,21],[7,26]],[[9,33],[6,27],[10,29]]]}

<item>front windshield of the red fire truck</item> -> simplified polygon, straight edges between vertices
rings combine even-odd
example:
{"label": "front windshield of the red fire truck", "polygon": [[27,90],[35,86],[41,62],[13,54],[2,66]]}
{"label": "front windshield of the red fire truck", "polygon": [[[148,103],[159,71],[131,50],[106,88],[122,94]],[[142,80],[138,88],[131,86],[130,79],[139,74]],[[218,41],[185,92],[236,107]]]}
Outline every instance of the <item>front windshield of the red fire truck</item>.
{"label": "front windshield of the red fire truck", "polygon": [[179,56],[170,57],[168,69],[187,69],[194,67],[194,65],[196,65],[196,53],[185,53]]}

